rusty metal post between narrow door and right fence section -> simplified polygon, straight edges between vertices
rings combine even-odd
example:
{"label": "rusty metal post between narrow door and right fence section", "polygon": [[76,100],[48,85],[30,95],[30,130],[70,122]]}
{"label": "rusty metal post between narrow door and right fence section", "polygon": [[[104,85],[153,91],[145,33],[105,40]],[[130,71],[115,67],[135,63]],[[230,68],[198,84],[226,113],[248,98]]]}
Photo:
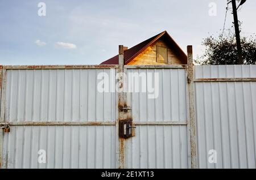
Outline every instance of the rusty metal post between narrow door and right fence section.
{"label": "rusty metal post between narrow door and right fence section", "polygon": [[188,96],[189,96],[189,121],[191,138],[191,168],[197,167],[197,139],[196,139],[196,114],[195,114],[195,88],[193,73],[193,50],[192,46],[187,46],[188,54]]}

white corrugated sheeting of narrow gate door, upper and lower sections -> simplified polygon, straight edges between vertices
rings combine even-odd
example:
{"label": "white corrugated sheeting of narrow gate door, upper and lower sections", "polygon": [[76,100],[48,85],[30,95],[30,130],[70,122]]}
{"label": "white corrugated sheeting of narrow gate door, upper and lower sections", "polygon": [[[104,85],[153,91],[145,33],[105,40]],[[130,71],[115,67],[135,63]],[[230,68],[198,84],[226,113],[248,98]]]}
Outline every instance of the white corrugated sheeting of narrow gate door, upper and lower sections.
{"label": "white corrugated sheeting of narrow gate door, upper and lower sections", "polygon": [[[154,82],[152,87],[155,87],[159,80],[159,93],[156,98],[148,98],[148,91],[127,95],[135,123],[156,122],[137,126],[135,137],[127,140],[127,168],[188,168],[187,125],[157,125],[158,122],[187,122],[185,68],[128,69],[128,82],[130,72],[146,74],[146,82],[138,76],[137,80],[134,78],[140,89],[145,84],[148,86],[149,81]],[[154,79],[154,74],[158,74],[159,79]]]}

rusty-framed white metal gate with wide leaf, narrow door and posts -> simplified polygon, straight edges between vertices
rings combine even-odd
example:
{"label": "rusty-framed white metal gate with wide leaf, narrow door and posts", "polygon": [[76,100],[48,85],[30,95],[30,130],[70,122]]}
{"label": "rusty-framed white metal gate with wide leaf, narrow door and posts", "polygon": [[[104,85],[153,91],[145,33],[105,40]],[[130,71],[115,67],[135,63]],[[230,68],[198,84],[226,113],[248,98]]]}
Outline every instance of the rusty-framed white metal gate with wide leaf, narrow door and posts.
{"label": "rusty-framed white metal gate with wide leaf, narrow door and posts", "polygon": [[1,168],[196,168],[189,67],[3,66]]}

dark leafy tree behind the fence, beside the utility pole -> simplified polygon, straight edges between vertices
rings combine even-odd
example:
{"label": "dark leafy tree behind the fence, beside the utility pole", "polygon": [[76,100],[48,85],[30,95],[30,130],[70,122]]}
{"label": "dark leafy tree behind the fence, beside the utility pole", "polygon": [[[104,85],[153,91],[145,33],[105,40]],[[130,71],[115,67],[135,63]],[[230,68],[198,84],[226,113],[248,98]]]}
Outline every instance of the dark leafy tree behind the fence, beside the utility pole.
{"label": "dark leafy tree behind the fence, beside the utility pole", "polygon": [[[256,64],[256,36],[241,37],[243,64]],[[202,42],[205,52],[195,60],[199,65],[238,65],[236,36],[209,36]]]}

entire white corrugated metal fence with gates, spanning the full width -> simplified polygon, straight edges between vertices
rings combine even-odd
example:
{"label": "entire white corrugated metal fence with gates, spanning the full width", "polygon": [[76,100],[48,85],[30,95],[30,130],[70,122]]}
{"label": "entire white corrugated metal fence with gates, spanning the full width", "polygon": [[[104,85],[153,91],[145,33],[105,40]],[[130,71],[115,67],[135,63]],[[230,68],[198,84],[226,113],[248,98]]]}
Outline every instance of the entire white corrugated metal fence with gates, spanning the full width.
{"label": "entire white corrugated metal fence with gates, spanning the full width", "polygon": [[123,67],[140,92],[123,96],[136,128],[122,139],[118,92],[97,89],[102,73],[117,83],[118,66],[3,66],[1,168],[256,168],[256,65],[195,66],[192,82],[187,67]]}

